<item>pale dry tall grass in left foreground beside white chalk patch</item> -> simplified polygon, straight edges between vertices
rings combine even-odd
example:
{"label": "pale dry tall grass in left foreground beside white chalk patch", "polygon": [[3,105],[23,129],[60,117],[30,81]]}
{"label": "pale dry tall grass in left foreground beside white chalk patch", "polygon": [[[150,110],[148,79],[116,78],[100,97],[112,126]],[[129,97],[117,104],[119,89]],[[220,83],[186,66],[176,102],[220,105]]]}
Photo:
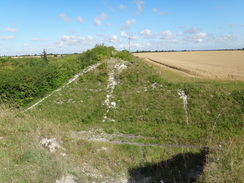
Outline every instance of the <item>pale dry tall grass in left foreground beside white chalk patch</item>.
{"label": "pale dry tall grass in left foreground beside white chalk patch", "polygon": [[62,163],[39,143],[48,132],[59,137],[55,128],[1,105],[0,182],[55,182],[63,173]]}

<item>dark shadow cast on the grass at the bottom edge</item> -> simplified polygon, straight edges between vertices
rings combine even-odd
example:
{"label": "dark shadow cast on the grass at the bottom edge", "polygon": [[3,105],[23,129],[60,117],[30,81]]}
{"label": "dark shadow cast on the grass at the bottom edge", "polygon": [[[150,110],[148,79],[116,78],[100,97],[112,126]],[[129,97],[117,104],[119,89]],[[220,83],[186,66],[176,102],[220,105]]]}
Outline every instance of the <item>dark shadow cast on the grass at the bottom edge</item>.
{"label": "dark shadow cast on the grass at the bottom edge", "polygon": [[193,183],[203,174],[208,148],[182,153],[157,164],[129,169],[128,183]]}

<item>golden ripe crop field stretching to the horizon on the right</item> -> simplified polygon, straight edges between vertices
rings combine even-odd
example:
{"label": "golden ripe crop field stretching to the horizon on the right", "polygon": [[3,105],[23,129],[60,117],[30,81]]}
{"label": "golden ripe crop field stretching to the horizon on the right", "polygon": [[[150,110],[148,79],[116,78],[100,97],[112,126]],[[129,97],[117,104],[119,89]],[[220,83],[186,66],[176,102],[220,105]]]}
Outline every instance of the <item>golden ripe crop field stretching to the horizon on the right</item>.
{"label": "golden ripe crop field stretching to the horizon on the right", "polygon": [[244,80],[244,51],[155,52],[134,55],[194,76]]}

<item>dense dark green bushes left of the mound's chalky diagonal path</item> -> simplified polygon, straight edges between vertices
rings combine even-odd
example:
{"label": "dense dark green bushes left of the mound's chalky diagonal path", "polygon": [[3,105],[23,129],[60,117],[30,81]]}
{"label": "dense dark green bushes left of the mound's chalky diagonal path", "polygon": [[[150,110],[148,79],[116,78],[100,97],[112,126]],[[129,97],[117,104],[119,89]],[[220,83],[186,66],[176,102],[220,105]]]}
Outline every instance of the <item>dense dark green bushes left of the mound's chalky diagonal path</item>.
{"label": "dense dark green bushes left of the mound's chalky diagonal path", "polygon": [[96,45],[80,55],[48,58],[0,58],[0,102],[14,103],[17,107],[35,98],[41,98],[60,87],[81,69],[109,58],[115,49]]}

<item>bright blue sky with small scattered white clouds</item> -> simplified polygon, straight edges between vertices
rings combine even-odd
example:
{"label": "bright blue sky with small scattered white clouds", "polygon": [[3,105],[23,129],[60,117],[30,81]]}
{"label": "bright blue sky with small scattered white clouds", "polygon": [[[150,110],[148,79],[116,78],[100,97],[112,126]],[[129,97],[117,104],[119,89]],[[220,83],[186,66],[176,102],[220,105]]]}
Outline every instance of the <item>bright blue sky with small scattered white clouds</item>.
{"label": "bright blue sky with small scattered white clouds", "polygon": [[[0,55],[244,48],[244,0],[0,0]],[[129,46],[130,43],[130,46]]]}

